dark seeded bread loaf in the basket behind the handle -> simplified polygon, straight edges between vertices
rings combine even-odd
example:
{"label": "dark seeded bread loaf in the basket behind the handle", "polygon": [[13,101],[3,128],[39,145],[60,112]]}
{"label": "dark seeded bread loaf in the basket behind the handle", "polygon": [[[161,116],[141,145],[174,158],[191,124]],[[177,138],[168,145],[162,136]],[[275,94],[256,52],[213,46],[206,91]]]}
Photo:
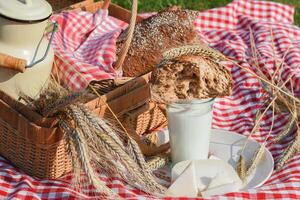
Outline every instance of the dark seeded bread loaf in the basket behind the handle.
{"label": "dark seeded bread loaf in the basket behind the handle", "polygon": [[[199,43],[193,23],[196,17],[196,11],[173,7],[137,23],[123,63],[123,76],[137,77],[146,74],[155,69],[164,51]],[[125,36],[126,30],[118,38],[117,55]]]}

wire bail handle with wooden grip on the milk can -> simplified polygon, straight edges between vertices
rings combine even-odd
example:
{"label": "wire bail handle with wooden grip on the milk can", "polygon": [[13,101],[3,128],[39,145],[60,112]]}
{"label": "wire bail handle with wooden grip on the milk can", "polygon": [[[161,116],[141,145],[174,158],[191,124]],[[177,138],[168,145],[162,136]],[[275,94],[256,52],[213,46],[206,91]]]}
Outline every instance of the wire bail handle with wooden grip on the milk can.
{"label": "wire bail handle with wooden grip on the milk can", "polygon": [[[53,26],[54,27],[53,27],[53,30],[52,30],[52,33],[51,33],[51,36],[50,36],[50,39],[49,39],[47,49],[45,51],[44,56],[41,59],[39,59],[37,61],[32,61],[29,65],[26,65],[27,61],[25,59],[17,58],[17,57],[11,56],[11,55],[7,55],[5,53],[0,53],[0,68],[11,69],[11,70],[14,70],[14,71],[17,71],[17,72],[24,73],[26,68],[33,67],[34,65],[36,65],[36,64],[42,62],[43,60],[45,60],[45,58],[47,57],[47,55],[49,53],[50,45],[51,45],[54,33],[56,31],[56,28],[57,28],[57,24],[54,23]],[[38,47],[36,49],[36,52],[37,52],[37,50],[38,50]]]}

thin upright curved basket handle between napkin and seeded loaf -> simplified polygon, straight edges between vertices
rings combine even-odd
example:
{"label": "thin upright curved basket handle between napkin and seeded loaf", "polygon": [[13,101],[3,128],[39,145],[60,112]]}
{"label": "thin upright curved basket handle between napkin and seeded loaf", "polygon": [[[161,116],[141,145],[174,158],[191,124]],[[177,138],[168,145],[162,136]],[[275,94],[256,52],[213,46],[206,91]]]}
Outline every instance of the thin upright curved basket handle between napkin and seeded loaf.
{"label": "thin upright curved basket handle between napkin and seeded loaf", "polygon": [[[110,0],[108,0],[108,1],[110,1]],[[136,24],[137,10],[138,10],[138,1],[132,0],[131,18],[130,18],[129,28],[128,28],[125,43],[120,51],[119,58],[115,64],[116,70],[122,70],[122,65],[124,63],[125,57],[127,55],[127,52],[129,50],[129,47],[130,47],[130,44],[131,44],[131,41],[133,38],[134,28],[135,28],[135,24]]]}

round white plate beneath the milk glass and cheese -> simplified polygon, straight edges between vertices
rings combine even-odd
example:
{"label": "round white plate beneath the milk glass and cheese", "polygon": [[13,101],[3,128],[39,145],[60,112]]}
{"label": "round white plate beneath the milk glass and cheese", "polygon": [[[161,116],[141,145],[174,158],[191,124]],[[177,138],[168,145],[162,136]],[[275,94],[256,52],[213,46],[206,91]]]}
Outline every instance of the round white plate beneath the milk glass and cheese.
{"label": "round white plate beneath the milk glass and cheese", "polygon": [[[161,131],[158,136],[160,138],[160,144],[169,141],[168,130]],[[235,168],[238,155],[240,155],[245,141],[246,137],[241,134],[213,129],[210,140],[210,153],[228,162],[231,166],[233,166],[233,168]],[[259,147],[260,144],[255,140],[249,140],[243,153],[246,159],[246,164],[251,163],[252,157]],[[247,178],[242,190],[256,188],[263,185],[270,178],[273,168],[274,160],[272,154],[268,149],[265,149],[263,158],[253,173]]]}

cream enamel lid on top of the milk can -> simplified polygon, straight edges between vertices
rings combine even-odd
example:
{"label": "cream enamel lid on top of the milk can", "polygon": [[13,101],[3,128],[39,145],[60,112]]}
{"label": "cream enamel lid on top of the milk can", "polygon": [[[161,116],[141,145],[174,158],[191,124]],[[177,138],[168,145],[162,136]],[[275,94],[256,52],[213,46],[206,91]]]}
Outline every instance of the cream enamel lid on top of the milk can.
{"label": "cream enamel lid on top of the milk can", "polygon": [[0,15],[17,21],[41,21],[50,17],[51,5],[45,0],[0,0]]}

